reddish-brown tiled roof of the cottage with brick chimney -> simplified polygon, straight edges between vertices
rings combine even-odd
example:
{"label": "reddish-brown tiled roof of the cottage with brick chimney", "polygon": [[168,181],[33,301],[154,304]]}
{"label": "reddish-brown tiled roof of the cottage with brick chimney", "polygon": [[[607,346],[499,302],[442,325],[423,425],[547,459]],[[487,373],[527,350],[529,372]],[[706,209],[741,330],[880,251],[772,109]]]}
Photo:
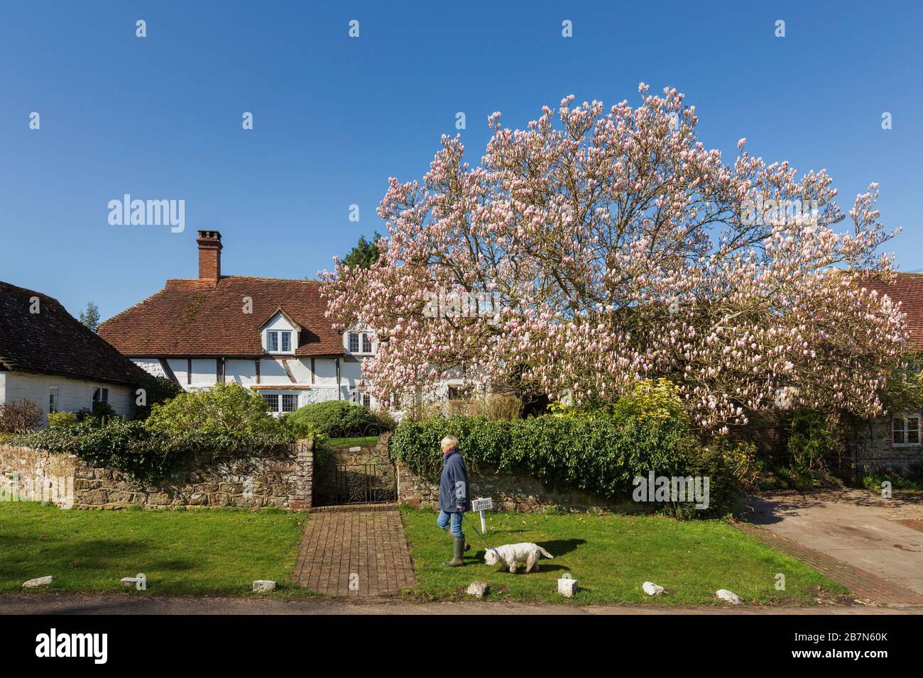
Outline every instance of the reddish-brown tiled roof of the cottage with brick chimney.
{"label": "reddish-brown tiled roof of the cottage with brick chimney", "polygon": [[[302,327],[295,355],[342,354],[342,336],[324,317],[318,280],[223,276],[167,280],[166,287],[100,326],[125,355],[258,356],[260,327],[280,308]],[[244,313],[246,297],[252,313]]]}

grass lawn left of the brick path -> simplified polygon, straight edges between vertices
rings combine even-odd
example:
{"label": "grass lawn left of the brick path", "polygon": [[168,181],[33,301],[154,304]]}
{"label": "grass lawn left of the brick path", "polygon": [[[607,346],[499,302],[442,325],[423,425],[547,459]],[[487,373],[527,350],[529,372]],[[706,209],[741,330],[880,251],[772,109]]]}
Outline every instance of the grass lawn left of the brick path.
{"label": "grass lawn left of the brick path", "polygon": [[0,591],[46,575],[54,583],[34,590],[126,590],[119,579],[143,572],[152,594],[243,594],[254,579],[273,579],[285,595],[301,595],[290,577],[305,520],[278,509],[80,511],[4,502]]}

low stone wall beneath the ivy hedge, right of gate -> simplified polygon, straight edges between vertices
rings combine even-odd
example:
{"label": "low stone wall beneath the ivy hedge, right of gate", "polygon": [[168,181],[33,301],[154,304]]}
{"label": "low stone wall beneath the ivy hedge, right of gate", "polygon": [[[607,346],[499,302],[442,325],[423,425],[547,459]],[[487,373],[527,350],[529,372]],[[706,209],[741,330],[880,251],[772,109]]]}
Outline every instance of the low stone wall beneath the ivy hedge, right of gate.
{"label": "low stone wall beneath the ivy hedge, right of gate", "polygon": [[[396,462],[398,473],[398,501],[416,508],[437,508],[439,479],[422,478],[402,462]],[[530,476],[514,475],[493,469],[471,473],[471,497],[491,497],[495,510],[533,513],[548,508],[570,512],[587,510],[617,510],[626,513],[647,512],[649,505],[624,502],[616,504],[593,494],[580,491],[551,490]]]}

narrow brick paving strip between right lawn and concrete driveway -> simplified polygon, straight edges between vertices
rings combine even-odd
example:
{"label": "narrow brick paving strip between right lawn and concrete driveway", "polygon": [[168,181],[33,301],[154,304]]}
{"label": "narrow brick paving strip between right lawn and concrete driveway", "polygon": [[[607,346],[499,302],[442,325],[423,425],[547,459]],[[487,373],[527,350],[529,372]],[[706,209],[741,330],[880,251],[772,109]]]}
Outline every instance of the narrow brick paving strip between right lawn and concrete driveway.
{"label": "narrow brick paving strip between right lawn and concrete driveway", "polygon": [[749,523],[738,523],[737,527],[776,551],[797,558],[847,589],[851,589],[858,599],[882,605],[923,605],[923,596],[916,591],[876,577],[870,572],[837,560],[826,553],[809,549],[769,529]]}

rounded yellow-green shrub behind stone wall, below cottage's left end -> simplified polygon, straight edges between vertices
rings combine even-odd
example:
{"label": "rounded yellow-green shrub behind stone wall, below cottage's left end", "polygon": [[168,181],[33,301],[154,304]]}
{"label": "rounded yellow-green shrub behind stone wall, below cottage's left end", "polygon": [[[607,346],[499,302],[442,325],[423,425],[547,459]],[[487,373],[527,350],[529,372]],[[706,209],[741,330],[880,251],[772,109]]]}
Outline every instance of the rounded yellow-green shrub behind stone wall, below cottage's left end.
{"label": "rounded yellow-green shrub behind stone wall, below cottage's left end", "polygon": [[174,436],[286,434],[285,426],[271,417],[266,402],[239,384],[217,384],[181,393],[150,409],[148,427]]}

